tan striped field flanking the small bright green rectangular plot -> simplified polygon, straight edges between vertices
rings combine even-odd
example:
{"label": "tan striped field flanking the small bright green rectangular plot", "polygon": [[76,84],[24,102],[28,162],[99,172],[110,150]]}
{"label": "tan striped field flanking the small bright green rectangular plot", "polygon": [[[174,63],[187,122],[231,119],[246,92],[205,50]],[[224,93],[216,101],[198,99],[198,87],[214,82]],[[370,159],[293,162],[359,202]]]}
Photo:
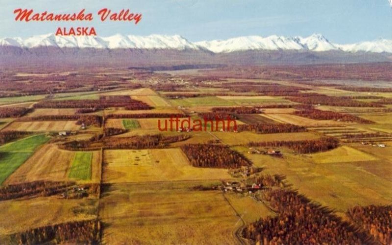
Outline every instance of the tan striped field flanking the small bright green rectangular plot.
{"label": "tan striped field flanking the small bright green rectangular plot", "polygon": [[[41,147],[27,159],[9,178],[5,184],[31,182],[36,180],[67,181],[75,152],[58,149],[55,144]],[[93,153],[91,181],[100,180],[100,153]]]}

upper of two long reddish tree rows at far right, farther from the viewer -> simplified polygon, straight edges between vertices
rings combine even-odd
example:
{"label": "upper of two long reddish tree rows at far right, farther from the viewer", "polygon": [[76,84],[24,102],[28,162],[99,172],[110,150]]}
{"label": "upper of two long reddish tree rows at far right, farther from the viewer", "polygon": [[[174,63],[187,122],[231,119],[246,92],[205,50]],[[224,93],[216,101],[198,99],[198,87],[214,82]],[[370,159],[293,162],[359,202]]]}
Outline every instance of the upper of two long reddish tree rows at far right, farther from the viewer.
{"label": "upper of two long reddish tree rows at far right, farther from the viewer", "polygon": [[[304,93],[306,95],[306,93]],[[287,97],[286,99],[308,105],[342,106],[342,107],[383,107],[376,103],[368,103],[348,98],[327,95],[306,95]]]}

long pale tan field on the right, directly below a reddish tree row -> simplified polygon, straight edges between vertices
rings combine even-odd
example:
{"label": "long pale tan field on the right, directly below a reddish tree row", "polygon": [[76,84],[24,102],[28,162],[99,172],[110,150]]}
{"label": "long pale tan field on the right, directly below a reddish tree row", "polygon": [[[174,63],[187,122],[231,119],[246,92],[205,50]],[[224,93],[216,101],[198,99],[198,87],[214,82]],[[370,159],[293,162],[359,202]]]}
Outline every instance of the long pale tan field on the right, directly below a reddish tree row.
{"label": "long pale tan field on the right, directly below a reddish tree row", "polygon": [[298,126],[304,127],[326,127],[326,126],[340,126],[344,125],[342,122],[333,120],[314,120],[302,116],[292,114],[261,114],[267,118],[275,120],[280,123],[291,123]]}

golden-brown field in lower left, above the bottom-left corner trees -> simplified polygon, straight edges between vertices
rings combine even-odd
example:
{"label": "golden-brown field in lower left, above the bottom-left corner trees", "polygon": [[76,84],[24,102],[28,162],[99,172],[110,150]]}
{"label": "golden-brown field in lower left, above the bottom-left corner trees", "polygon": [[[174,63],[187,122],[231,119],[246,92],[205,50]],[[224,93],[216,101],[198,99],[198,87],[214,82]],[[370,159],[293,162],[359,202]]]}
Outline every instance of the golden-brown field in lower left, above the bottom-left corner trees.
{"label": "golden-brown field in lower left, above the bottom-left corner trees", "polygon": [[0,201],[0,236],[55,223],[94,219],[97,207],[95,199],[39,197]]}

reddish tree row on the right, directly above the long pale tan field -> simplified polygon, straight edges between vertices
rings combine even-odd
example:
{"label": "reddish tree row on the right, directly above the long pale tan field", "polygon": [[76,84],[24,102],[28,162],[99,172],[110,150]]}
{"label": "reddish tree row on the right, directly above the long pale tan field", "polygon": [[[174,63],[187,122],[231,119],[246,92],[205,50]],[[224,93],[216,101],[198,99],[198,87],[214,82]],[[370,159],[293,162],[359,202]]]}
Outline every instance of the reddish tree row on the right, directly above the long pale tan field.
{"label": "reddish tree row on the right, directly above the long pale tan field", "polygon": [[373,121],[350,115],[350,114],[344,114],[344,113],[339,113],[335,111],[322,111],[318,109],[306,109],[302,111],[295,111],[295,115],[311,118],[311,119],[316,119],[316,120],[335,120],[335,121],[343,121],[343,122],[356,122],[356,123],[374,123]]}

